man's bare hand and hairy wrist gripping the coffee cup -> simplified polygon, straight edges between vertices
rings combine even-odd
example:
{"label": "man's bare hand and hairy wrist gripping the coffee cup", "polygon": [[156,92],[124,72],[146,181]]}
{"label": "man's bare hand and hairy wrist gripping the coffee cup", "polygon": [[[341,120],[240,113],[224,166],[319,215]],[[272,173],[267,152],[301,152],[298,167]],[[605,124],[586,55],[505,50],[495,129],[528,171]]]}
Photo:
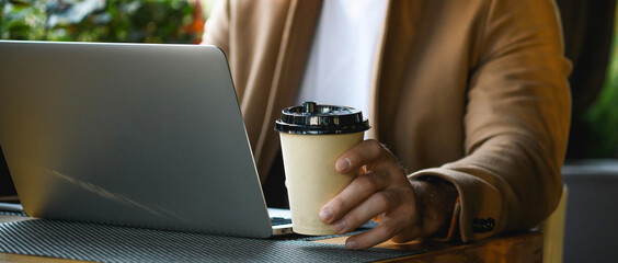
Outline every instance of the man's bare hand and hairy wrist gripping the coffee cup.
{"label": "man's bare hand and hairy wrist gripping the coffee cup", "polygon": [[360,170],[360,175],[322,207],[320,219],[337,233],[352,231],[370,219],[379,222],[350,237],[345,242],[348,249],[367,249],[391,238],[405,242],[428,237],[450,219],[457,198],[455,187],[409,181],[394,156],[376,140],[362,141],[345,152],[335,169],[340,173]]}

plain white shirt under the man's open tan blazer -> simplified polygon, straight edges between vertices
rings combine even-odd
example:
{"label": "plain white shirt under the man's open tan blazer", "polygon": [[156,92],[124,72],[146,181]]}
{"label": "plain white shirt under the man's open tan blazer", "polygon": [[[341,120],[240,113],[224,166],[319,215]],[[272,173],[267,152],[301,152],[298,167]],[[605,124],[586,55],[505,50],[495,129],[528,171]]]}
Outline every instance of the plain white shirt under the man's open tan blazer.
{"label": "plain white shirt under the man's open tan blazer", "polygon": [[325,0],[297,103],[352,106],[368,117],[374,58],[386,0]]}

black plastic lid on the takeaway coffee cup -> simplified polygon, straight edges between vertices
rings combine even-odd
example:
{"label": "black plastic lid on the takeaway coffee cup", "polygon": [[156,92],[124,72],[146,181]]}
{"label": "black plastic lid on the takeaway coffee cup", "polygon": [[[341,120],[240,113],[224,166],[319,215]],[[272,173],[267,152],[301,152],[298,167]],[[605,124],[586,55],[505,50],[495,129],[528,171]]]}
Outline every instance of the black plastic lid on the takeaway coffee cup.
{"label": "black plastic lid on the takeaway coffee cup", "polygon": [[369,121],[363,119],[363,113],[354,107],[316,102],[284,108],[275,123],[275,130],[279,133],[301,135],[352,134],[369,128]]}

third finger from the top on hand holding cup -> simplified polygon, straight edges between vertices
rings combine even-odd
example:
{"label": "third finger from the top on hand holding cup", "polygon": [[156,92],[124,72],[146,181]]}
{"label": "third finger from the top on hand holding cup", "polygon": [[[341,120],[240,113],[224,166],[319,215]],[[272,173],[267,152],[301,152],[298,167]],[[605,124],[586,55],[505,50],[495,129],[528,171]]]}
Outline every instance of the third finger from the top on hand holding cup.
{"label": "third finger from the top on hand holding cup", "polygon": [[373,194],[360,205],[354,207],[343,218],[334,222],[333,230],[336,233],[346,233],[371,218],[385,214],[401,203],[401,195],[396,190],[387,190]]}

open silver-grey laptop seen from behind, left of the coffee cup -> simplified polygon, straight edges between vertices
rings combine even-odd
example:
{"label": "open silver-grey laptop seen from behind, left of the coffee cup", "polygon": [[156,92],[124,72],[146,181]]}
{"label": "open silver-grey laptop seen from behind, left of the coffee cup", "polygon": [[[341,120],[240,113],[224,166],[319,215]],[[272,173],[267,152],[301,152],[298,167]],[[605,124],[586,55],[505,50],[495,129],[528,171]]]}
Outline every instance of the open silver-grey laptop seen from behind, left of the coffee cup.
{"label": "open silver-grey laptop seen from behind, left of the coffee cup", "polygon": [[0,41],[0,146],[27,215],[290,232],[272,225],[216,46]]}

